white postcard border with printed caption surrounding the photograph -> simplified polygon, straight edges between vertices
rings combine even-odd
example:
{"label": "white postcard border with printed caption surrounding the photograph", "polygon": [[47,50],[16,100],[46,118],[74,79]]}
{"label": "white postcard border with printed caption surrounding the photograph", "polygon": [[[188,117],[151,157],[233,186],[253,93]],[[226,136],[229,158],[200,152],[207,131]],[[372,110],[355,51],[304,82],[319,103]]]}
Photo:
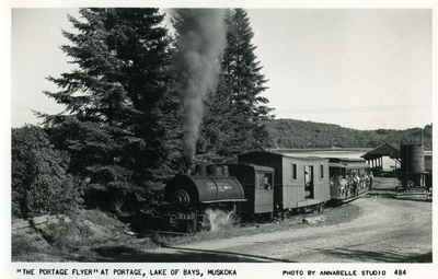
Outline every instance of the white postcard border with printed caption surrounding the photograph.
{"label": "white postcard border with printed caption surrounding the photograph", "polygon": [[[435,257],[437,256],[437,202],[433,202],[433,264],[170,264],[170,263],[127,263],[127,264],[101,264],[101,263],[11,263],[11,209],[10,209],[10,197],[11,197],[11,11],[14,8],[84,8],[84,7],[159,7],[159,8],[224,8],[224,7],[242,7],[242,8],[311,8],[311,9],[366,9],[366,8],[393,8],[393,9],[431,9],[433,10],[433,123],[437,123],[437,30],[438,30],[438,10],[437,1],[279,1],[279,0],[254,0],[254,1],[170,1],[170,0],[155,0],[155,1],[91,1],[91,0],[7,0],[2,2],[0,22],[1,22],[1,36],[2,43],[0,44],[0,67],[1,67],[1,92],[2,102],[0,102],[2,117],[1,117],[1,211],[0,217],[2,220],[1,231],[1,258],[2,266],[1,275],[2,278],[38,278],[38,277],[18,277],[18,268],[232,268],[237,269],[238,278],[335,278],[335,277],[291,277],[283,276],[283,270],[322,270],[322,269],[339,269],[339,270],[351,270],[351,269],[384,269],[387,271],[395,269],[406,269],[406,276],[395,276],[391,271],[383,278],[433,278],[438,275],[438,264]],[[437,127],[434,125],[434,135],[437,133]],[[433,149],[437,150],[438,141],[437,137],[434,137]],[[437,160],[434,154],[434,177],[437,176]],[[434,193],[434,200],[438,198],[438,194]],[[4,277],[3,277],[4,276]],[[45,277],[46,278],[46,277]],[[59,278],[59,277],[47,277],[47,278]],[[69,277],[64,276],[61,278],[81,278],[78,276]],[[83,277],[85,278],[85,277]],[[90,277],[88,277],[90,278]],[[96,278],[128,278],[128,277],[96,277]],[[169,277],[166,277],[169,278]],[[180,278],[180,277],[171,277]],[[191,278],[191,277],[186,277]],[[222,278],[222,277],[220,277]],[[347,277],[345,277],[347,278]],[[350,277],[348,277],[350,278]],[[356,278],[361,278],[360,276]],[[370,277],[368,277],[370,278]],[[380,278],[380,277],[378,277]]]}

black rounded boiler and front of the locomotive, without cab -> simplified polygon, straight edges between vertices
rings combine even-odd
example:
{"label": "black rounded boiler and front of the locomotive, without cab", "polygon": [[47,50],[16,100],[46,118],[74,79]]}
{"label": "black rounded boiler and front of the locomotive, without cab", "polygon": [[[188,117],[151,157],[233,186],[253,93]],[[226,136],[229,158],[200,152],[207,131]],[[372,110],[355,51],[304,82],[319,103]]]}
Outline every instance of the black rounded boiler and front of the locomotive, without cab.
{"label": "black rounded boiler and front of the locomotive, without cab", "polygon": [[230,176],[227,165],[199,164],[195,171],[177,174],[166,183],[161,212],[170,229],[198,231],[206,225],[206,210],[237,212],[246,201],[240,182]]}

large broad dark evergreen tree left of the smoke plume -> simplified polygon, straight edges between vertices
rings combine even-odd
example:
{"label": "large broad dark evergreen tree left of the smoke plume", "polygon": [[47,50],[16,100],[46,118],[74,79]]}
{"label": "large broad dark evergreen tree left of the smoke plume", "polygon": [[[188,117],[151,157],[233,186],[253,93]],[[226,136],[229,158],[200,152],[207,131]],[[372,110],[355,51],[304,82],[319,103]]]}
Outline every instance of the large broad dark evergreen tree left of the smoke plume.
{"label": "large broad dark evergreen tree left of the smoke plume", "polygon": [[169,171],[169,36],[158,9],[80,14],[69,16],[76,32],[64,32],[70,44],[61,47],[77,68],[50,77],[60,91],[46,92],[66,109],[43,116],[57,147],[71,153],[70,172],[117,198]]}

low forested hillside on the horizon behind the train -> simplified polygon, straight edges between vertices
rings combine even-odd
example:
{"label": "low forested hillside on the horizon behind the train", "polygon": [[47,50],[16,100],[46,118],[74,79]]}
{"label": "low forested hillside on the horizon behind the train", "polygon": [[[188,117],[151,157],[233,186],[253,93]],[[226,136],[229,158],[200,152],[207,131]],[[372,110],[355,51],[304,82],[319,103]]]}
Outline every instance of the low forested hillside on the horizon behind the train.
{"label": "low forested hillside on the horizon behind the train", "polygon": [[[420,140],[422,128],[357,130],[339,125],[275,119],[267,125],[275,148],[372,148],[383,141],[397,147],[401,140]],[[431,149],[431,125],[424,127],[425,149]]]}

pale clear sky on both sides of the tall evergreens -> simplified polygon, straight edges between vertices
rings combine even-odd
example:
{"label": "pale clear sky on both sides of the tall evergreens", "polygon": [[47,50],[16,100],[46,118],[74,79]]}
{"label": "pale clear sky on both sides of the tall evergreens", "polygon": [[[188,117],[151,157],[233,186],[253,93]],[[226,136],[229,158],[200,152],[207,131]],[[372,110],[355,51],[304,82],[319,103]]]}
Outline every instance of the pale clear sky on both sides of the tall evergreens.
{"label": "pale clear sky on both sides of the tall evergreens", "polygon": [[[247,10],[253,44],[268,79],[264,95],[277,118],[357,129],[404,129],[431,123],[430,10]],[[43,91],[46,77],[71,69],[67,14],[77,9],[12,11],[12,127],[35,124],[33,111],[62,107]]]}

